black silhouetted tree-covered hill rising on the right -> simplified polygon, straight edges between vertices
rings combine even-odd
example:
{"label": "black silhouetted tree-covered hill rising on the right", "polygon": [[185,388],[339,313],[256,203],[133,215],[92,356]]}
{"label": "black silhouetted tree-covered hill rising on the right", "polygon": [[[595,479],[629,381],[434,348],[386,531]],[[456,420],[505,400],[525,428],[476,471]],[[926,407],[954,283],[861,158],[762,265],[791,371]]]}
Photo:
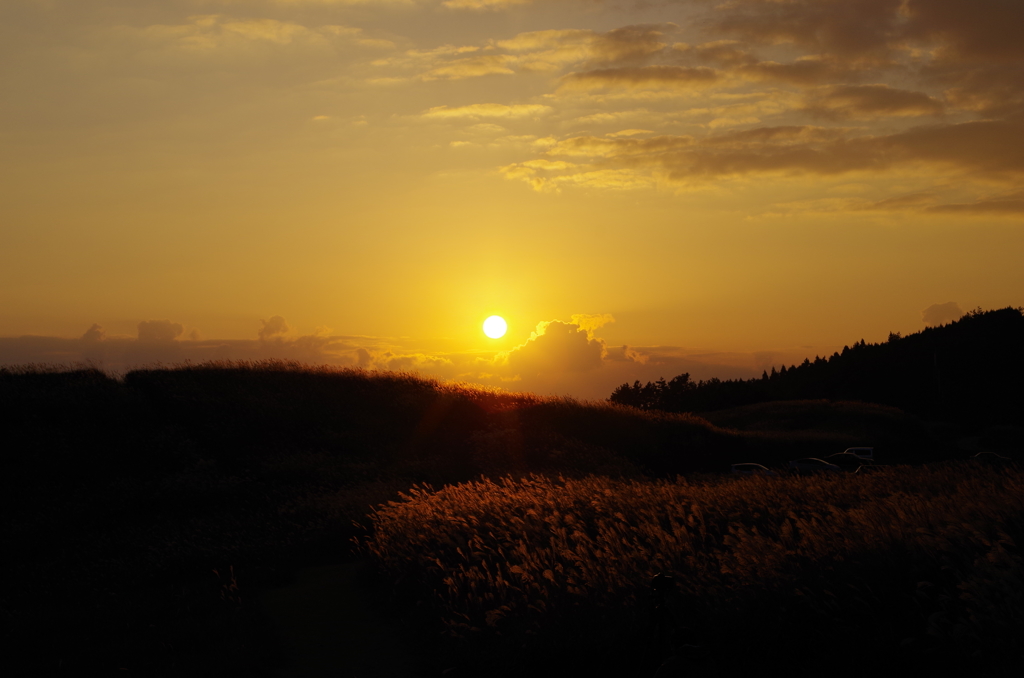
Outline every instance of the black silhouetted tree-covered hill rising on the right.
{"label": "black silhouetted tree-covered hill rising on the right", "polygon": [[608,398],[641,410],[712,412],[768,400],[878,402],[926,418],[1024,423],[1024,307],[984,311],[829,357],[765,371],[760,378],[623,384]]}

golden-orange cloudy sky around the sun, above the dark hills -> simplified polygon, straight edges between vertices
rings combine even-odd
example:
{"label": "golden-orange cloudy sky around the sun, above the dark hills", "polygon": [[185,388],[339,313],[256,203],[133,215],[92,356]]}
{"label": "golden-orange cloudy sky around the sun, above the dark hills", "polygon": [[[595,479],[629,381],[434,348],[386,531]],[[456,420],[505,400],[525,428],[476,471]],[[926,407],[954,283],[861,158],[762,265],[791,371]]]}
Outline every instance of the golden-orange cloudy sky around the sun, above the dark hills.
{"label": "golden-orange cloudy sky around the sun, above the dark hills", "polygon": [[1021,305],[1021,26],[1019,0],[4,0],[0,363],[606,397]]}

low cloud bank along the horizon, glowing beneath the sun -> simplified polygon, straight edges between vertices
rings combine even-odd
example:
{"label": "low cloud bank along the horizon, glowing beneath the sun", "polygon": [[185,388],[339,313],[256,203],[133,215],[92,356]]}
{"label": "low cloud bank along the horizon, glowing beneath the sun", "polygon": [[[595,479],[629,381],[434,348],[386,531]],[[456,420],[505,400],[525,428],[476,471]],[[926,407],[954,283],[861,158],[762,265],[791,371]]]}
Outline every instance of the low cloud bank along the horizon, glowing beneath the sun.
{"label": "low cloud bank along the horizon, glowing beneath the sun", "polygon": [[[385,338],[333,336],[321,329],[289,336],[285,319],[260,321],[255,339],[199,339],[170,321],[139,324],[139,336],[109,336],[93,324],[77,339],[0,337],[0,365],[91,366],[112,374],[153,366],[216,361],[286,359],[339,368],[416,372],[427,377],[579,397],[606,398],[621,383],[671,378],[756,376],[746,354],[721,354],[671,346],[607,346],[596,336],[614,323],[610,313],[577,313],[570,321],[542,321],[529,339],[493,357],[476,352],[431,354],[410,351]],[[798,361],[799,362],[799,361]]]}

